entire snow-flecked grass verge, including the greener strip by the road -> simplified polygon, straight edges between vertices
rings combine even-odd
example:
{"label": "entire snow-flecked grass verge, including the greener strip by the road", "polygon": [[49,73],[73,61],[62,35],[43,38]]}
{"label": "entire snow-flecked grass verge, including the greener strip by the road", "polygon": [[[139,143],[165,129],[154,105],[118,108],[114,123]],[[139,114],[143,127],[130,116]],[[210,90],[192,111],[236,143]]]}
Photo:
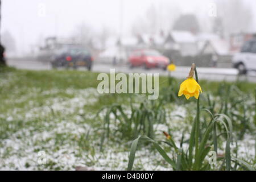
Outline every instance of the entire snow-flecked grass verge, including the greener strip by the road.
{"label": "entire snow-flecked grass verge, including the greener strip by the road", "polygon": [[[93,169],[126,169],[131,142],[143,133],[141,130],[134,134],[134,130],[126,130],[126,125],[122,123],[126,123],[125,119],[133,120],[131,113],[134,110],[134,113],[138,114],[142,110],[140,109],[142,103],[147,111],[154,113],[158,110],[154,109],[154,103],[144,102],[146,98],[144,95],[98,94],[97,76],[98,73],[86,71],[26,71],[13,68],[1,70],[0,169],[60,170],[75,169],[76,166]],[[181,80],[173,82],[179,85]],[[175,155],[175,151],[168,147],[170,144],[159,143],[159,141],[168,143],[164,140],[162,131],[170,133],[176,141],[175,144],[183,143],[184,147],[188,147],[188,134],[191,132],[195,115],[191,107],[196,101],[177,99],[175,94],[177,88],[168,87],[167,77],[160,77],[159,83],[159,100],[165,98],[160,110],[165,111],[166,119],[152,125],[154,137],[148,133],[147,136],[150,137],[148,142],[155,146],[160,144],[159,147],[162,147],[168,155]],[[253,104],[256,84],[200,80],[200,85],[204,92],[200,98],[201,107],[210,110],[213,114],[225,113],[232,119],[234,133],[239,136],[238,146],[243,148],[238,150],[232,145],[232,155],[255,166],[255,155],[248,150],[253,150],[255,146],[253,144],[255,131],[252,125],[255,122]],[[225,92],[232,94],[226,98]],[[155,104],[158,104],[158,101]],[[110,133],[106,140],[104,118],[108,114],[108,108],[112,106],[119,106],[119,109],[115,108],[115,113],[113,110],[109,112]],[[123,115],[120,114],[120,107]],[[205,121],[209,120],[207,112],[202,112],[200,117],[205,118]],[[156,118],[158,120],[158,117]],[[134,119],[134,122],[136,121],[138,120]],[[135,128],[133,122],[130,126],[131,129]],[[200,127],[205,127],[204,123],[201,123]],[[218,131],[221,131],[222,127],[216,125]],[[126,134],[123,135],[122,131],[126,131]],[[183,142],[181,142],[182,134],[184,134]],[[223,154],[226,135],[217,134],[220,134],[217,143],[220,148],[218,153]],[[102,136],[105,138],[103,142]],[[210,137],[213,135],[210,134]],[[171,169],[168,162],[158,157],[161,154],[148,142],[138,143],[133,168]],[[46,165],[37,163],[37,154],[41,150],[46,151]],[[238,150],[237,155],[236,150]],[[182,159],[180,156],[176,157],[177,161]],[[177,161],[175,165],[179,164]]]}

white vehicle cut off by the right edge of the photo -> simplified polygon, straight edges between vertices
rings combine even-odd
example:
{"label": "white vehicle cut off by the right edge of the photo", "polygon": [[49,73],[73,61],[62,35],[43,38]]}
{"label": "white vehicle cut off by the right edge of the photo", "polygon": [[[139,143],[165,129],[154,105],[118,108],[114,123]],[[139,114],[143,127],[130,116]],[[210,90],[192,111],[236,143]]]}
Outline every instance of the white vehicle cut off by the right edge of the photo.
{"label": "white vehicle cut off by the right edge of the photo", "polygon": [[256,38],[245,42],[241,52],[233,56],[232,62],[234,68],[237,68],[240,74],[246,74],[247,71],[256,71]]}

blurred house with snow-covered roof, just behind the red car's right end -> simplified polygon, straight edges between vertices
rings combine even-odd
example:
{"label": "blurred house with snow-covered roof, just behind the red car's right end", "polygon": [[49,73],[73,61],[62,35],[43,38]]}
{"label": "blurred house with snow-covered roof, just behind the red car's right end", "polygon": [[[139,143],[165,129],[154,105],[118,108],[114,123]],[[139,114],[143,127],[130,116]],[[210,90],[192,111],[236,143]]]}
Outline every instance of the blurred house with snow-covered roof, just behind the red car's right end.
{"label": "blurred house with snow-covered roof, just behind the red car's right end", "polygon": [[189,31],[171,31],[164,48],[180,51],[181,56],[195,56],[198,52],[196,38]]}

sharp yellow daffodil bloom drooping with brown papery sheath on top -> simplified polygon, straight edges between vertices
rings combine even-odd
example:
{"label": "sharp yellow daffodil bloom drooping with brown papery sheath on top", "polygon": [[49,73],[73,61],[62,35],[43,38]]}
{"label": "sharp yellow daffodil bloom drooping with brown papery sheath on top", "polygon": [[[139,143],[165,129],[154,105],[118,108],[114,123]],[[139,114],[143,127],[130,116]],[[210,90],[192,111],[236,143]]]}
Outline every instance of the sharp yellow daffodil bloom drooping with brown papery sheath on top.
{"label": "sharp yellow daffodil bloom drooping with brown papery sheath on top", "polygon": [[187,100],[193,96],[196,99],[198,99],[200,92],[202,93],[201,86],[193,78],[194,70],[195,70],[195,64],[192,64],[192,68],[191,68],[191,71],[189,72],[187,80],[183,81],[180,84],[180,90],[179,90],[178,96],[182,96],[184,94],[184,96],[187,98]]}

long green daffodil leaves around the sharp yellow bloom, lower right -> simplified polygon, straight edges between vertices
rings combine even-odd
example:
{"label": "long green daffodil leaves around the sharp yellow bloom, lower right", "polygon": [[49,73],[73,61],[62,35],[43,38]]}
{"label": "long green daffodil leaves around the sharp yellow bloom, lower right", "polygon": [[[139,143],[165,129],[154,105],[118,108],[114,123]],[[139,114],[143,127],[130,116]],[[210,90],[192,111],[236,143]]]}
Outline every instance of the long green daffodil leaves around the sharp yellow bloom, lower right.
{"label": "long green daffodil leaves around the sharp yellow bloom, lower right", "polygon": [[[195,76],[196,81],[199,82],[196,68]],[[147,141],[154,144],[154,147],[159,152],[159,154],[162,155],[163,159],[166,160],[167,163],[171,164],[171,167],[174,170],[209,170],[211,167],[207,161],[208,152],[213,149],[218,156],[218,140],[220,140],[220,137],[222,136],[221,134],[224,133],[226,137],[225,156],[217,157],[218,163],[221,163],[219,170],[254,170],[254,168],[249,163],[232,156],[230,149],[230,144],[233,141],[233,125],[236,126],[236,130],[239,134],[238,139],[242,139],[246,129],[251,129],[249,126],[250,116],[247,117],[245,111],[246,99],[245,97],[238,97],[238,95],[241,96],[242,92],[236,85],[225,84],[225,82],[220,84],[217,89],[217,94],[221,97],[221,107],[218,110],[218,113],[216,109],[216,102],[211,101],[209,94],[207,94],[207,106],[204,106],[204,108],[200,108],[200,97],[197,100],[196,116],[188,139],[189,146],[187,151],[185,148],[182,148],[182,143],[184,140],[183,136],[181,138],[180,148],[176,146],[172,138],[167,138],[167,141],[164,142],[175,150],[175,153],[172,154],[171,157],[168,156],[167,152],[165,152],[155,140],[144,136],[138,137],[133,141],[131,145],[129,164],[127,169],[131,170],[133,168],[135,152],[137,150],[139,140],[146,139]],[[238,100],[236,98],[240,99]],[[171,101],[170,97],[167,96],[167,100]],[[207,119],[200,121],[200,110],[206,111],[208,113],[208,118],[210,118],[209,123],[206,123]],[[242,110],[242,115],[236,114],[240,110]],[[204,118],[207,118],[207,116],[204,116]],[[201,122],[204,123],[202,124]],[[240,127],[238,127],[239,125]],[[240,168],[237,168],[238,166],[240,166]]]}

